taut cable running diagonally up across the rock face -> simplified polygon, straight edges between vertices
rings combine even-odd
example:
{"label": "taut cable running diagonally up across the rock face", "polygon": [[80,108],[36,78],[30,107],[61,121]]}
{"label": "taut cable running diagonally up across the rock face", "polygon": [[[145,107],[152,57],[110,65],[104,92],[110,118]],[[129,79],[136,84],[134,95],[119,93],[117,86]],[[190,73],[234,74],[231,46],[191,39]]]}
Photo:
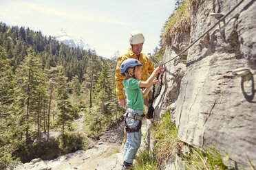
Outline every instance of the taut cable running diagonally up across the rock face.
{"label": "taut cable running diagonally up across the rock face", "polygon": [[[231,14],[231,12],[233,12],[233,10],[235,10],[235,8],[237,8],[237,6],[239,6],[244,0],[239,1],[239,3],[237,3],[237,5],[235,5],[228,13],[226,13],[224,16],[222,16],[222,18],[217,21],[217,23],[215,23],[213,26],[211,26],[206,32],[204,32],[204,34],[202,34],[202,36],[200,36],[197,40],[195,40],[194,42],[191,43],[191,45],[189,45],[189,47],[186,47],[186,49],[184,49],[183,51],[181,51],[177,56],[175,56],[174,58],[171,58],[171,60],[178,58],[178,56],[180,56],[182,53],[184,53],[186,50],[188,50],[192,45],[195,44],[195,42],[198,42],[198,40],[200,40],[200,38],[202,38],[205,34],[207,34],[209,31],[211,31],[211,29],[213,29],[213,27],[215,27],[218,23],[220,23],[220,21],[224,20],[226,18],[226,16],[228,16],[229,14]],[[167,62],[170,62],[171,60],[168,60]],[[164,64],[167,64],[167,62],[161,63],[161,66]]]}

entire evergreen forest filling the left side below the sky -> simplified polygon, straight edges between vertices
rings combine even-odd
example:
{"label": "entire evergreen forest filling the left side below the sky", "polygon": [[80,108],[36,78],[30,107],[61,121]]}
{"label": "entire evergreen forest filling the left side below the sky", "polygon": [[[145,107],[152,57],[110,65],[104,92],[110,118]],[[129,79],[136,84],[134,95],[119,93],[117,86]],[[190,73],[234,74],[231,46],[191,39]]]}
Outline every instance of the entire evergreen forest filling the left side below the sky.
{"label": "entire evergreen forest filling the left side below the sky", "polygon": [[[115,65],[94,50],[70,48],[41,32],[0,23],[0,169],[17,158],[54,158],[79,143],[86,149],[81,135],[69,134],[72,121],[81,107],[91,106],[96,112],[90,114],[95,124],[89,130],[97,136],[114,115],[118,118]],[[57,127],[62,127],[61,143],[49,140],[50,128]]]}

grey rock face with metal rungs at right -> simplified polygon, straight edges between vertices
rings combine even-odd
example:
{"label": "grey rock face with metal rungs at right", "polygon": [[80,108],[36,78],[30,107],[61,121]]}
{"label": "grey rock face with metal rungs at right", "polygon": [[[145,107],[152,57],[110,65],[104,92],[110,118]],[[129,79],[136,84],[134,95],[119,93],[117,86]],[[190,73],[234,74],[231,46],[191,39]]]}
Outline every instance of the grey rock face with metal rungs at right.
{"label": "grey rock face with metal rungs at right", "polygon": [[[236,0],[202,1],[191,19],[190,35],[173,38],[170,60],[226,14]],[[180,140],[196,147],[214,145],[243,167],[256,160],[256,1],[244,0],[224,21],[193,45],[186,65],[166,64],[165,85],[155,119],[171,108]],[[247,68],[247,72],[233,71]],[[242,74],[244,73],[244,74]],[[247,158],[248,156],[248,158]]]}

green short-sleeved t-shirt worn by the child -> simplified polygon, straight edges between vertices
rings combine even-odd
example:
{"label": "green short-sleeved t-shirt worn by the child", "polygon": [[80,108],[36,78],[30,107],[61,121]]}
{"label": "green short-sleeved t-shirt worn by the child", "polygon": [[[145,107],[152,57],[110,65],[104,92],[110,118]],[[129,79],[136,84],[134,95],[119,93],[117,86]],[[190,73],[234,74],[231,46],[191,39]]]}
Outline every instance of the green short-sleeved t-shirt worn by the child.
{"label": "green short-sleeved t-shirt worn by the child", "polygon": [[128,108],[143,110],[144,97],[140,89],[140,82],[140,80],[134,78],[129,78],[122,82],[126,91]]}

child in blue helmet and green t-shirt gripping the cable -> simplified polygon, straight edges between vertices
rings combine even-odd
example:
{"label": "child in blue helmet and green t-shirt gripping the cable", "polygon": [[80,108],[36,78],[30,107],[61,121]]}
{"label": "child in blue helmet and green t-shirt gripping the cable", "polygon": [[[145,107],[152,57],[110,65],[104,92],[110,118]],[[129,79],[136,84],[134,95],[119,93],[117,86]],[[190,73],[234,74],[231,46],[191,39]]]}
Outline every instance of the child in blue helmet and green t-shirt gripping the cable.
{"label": "child in blue helmet and green t-shirt gripping the cable", "polygon": [[[147,96],[153,84],[158,80],[154,80],[160,72],[160,68],[156,68],[146,82],[140,80],[142,76],[142,64],[136,59],[127,59],[122,62],[120,73],[125,76],[122,82],[127,95],[127,112],[125,113],[125,130],[128,132],[127,141],[124,148],[124,165],[122,169],[130,169],[132,162],[136,156],[141,142],[141,121],[145,115],[143,114],[144,97]],[[141,90],[141,87],[146,87]]]}

